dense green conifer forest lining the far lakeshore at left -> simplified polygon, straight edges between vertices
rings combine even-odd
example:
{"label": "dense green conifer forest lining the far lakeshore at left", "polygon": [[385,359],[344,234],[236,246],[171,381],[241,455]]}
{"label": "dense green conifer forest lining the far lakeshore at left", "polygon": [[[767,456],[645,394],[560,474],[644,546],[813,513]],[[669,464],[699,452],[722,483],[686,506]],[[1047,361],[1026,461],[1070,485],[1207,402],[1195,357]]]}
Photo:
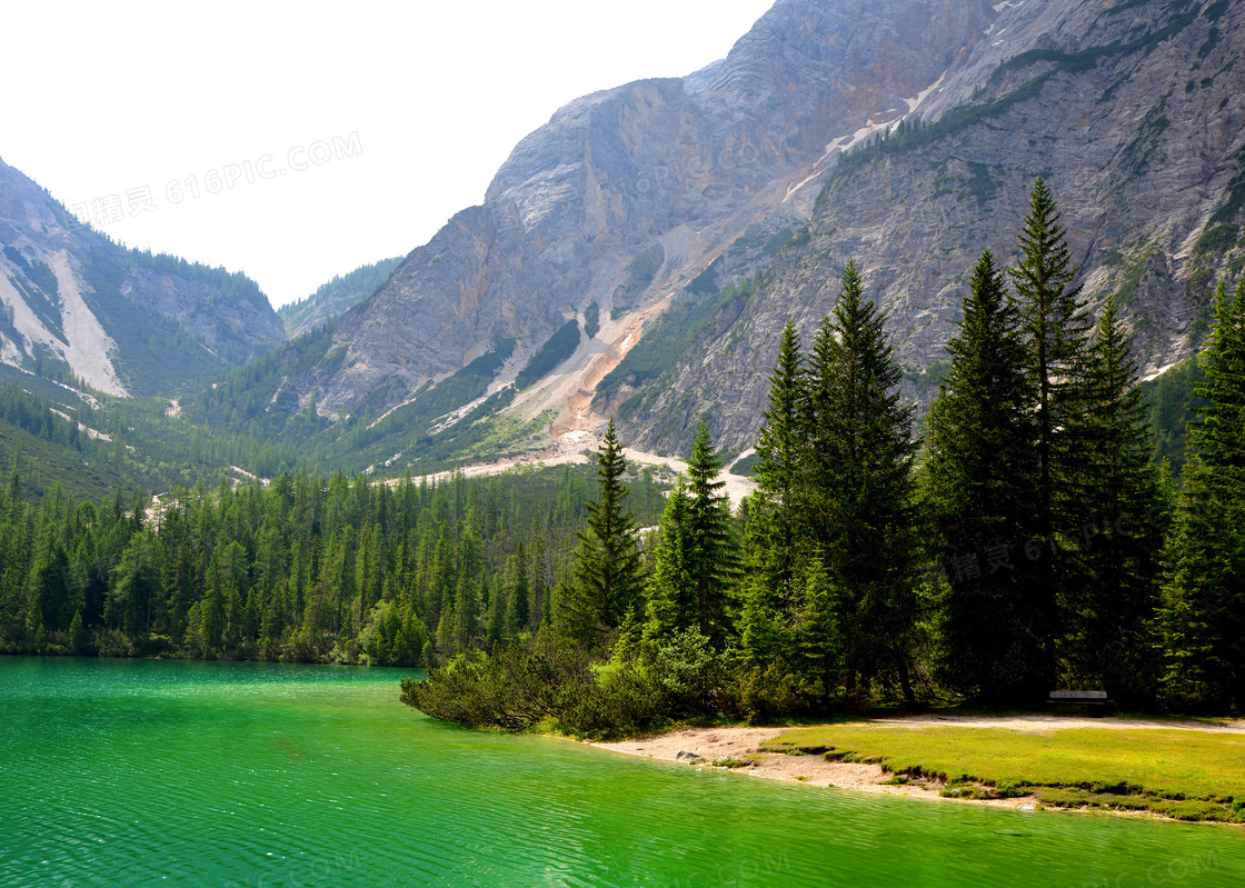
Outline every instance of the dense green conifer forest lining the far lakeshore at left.
{"label": "dense green conifer forest lining the far lakeshore at left", "polygon": [[[632,476],[655,522],[661,487]],[[557,612],[591,494],[584,467],[442,483],[0,492],[0,650],[436,664]]]}

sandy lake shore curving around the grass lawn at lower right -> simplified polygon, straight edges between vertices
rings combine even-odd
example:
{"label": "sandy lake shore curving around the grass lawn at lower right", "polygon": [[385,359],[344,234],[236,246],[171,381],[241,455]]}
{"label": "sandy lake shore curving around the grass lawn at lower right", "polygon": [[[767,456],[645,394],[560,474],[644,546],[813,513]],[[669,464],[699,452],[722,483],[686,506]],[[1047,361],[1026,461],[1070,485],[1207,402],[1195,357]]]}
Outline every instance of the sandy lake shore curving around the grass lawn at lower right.
{"label": "sandy lake shore curving around the grass lawn at lower right", "polygon": [[[1033,811],[1037,808],[1058,810],[1088,810],[1088,805],[1068,805],[1063,802],[1050,803],[1043,797],[1043,791],[1033,787],[1032,791],[1016,792],[1005,798],[982,797],[980,793],[970,791],[967,795],[959,795],[956,786],[959,781],[949,781],[945,773],[933,773],[923,770],[920,773],[904,773],[896,781],[896,775],[884,767],[878,761],[847,761],[834,760],[834,756],[823,755],[824,746],[818,742],[813,749],[803,752],[798,746],[791,746],[783,751],[779,739],[784,735],[796,736],[801,731],[822,731],[830,736],[835,730],[858,729],[899,729],[918,734],[926,730],[945,731],[947,729],[974,731],[1006,730],[1017,735],[1046,736],[1056,731],[1072,731],[1081,729],[1102,729],[1108,731],[1127,731],[1130,735],[1145,731],[1190,731],[1199,735],[1224,734],[1240,735],[1245,742],[1245,721],[1221,721],[1206,724],[1198,721],[1180,720],[1134,720],[1118,717],[1086,719],[1073,716],[1052,715],[1020,715],[1020,716],[969,716],[969,715],[910,715],[880,719],[867,719],[850,722],[839,722],[822,727],[791,726],[791,727],[748,727],[748,726],[722,726],[722,727],[680,727],[664,734],[645,737],[632,737],[618,741],[596,741],[591,745],[620,752],[624,755],[639,756],[686,763],[693,767],[718,767],[730,768],[737,773],[745,773],[762,780],[784,780],[808,783],[810,786],[824,786],[857,792],[885,793],[904,796],[909,798],[923,798],[928,801],[959,801],[975,805],[987,805],[992,807],[1013,808],[1021,811]],[[969,737],[972,735],[969,734]],[[985,735],[982,735],[985,736]],[[1190,734],[1193,736],[1193,734]],[[949,782],[952,785],[949,792]],[[1033,781],[1038,782],[1038,781]],[[1099,808],[1101,810],[1101,808]],[[1155,817],[1159,820],[1177,820],[1177,817],[1153,810],[1117,810],[1117,813],[1129,816]],[[1188,820],[1188,818],[1180,818]]]}

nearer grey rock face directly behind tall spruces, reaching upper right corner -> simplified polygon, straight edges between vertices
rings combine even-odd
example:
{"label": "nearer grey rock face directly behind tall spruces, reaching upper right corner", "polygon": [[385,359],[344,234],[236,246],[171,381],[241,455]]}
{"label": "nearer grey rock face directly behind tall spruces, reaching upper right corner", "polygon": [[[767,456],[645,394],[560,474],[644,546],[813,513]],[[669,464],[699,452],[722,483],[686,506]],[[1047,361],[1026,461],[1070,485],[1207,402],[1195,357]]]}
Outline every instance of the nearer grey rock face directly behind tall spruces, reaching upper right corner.
{"label": "nearer grey rock face directly behind tall spruces, reaching upper right corner", "polygon": [[1013,259],[1040,174],[1091,306],[1117,294],[1148,372],[1191,354],[1214,278],[1245,254],[1245,5],[1119,6],[1005,9],[925,106],[944,126],[829,173],[808,242],[647,386],[625,440],[680,452],[707,416],[721,446],[751,446],[783,324],[809,342],[849,258],[905,367],[945,357],[976,257]]}

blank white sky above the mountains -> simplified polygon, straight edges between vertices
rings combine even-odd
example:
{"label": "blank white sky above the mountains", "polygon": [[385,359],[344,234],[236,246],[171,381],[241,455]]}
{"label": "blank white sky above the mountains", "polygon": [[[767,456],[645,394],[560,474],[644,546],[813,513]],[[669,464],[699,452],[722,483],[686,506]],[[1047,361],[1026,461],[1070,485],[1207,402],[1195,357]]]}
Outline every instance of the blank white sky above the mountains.
{"label": "blank white sky above the mountains", "polygon": [[279,305],[426,243],[559,106],[703,67],[769,5],[12,2],[0,158]]}

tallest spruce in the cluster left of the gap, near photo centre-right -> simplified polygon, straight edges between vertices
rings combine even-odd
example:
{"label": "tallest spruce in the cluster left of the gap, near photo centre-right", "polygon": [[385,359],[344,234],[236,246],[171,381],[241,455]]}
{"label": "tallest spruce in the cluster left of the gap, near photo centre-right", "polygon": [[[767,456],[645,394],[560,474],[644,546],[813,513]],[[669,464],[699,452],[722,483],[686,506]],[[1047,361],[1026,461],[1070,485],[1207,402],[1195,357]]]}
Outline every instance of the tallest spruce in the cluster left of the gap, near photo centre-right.
{"label": "tallest spruce in the cluster left of the gap, near photo centre-right", "polygon": [[903,372],[884,321],[848,262],[809,361],[807,483],[815,544],[838,597],[848,694],[867,699],[868,685],[885,673],[911,700],[913,407],[900,399]]}

